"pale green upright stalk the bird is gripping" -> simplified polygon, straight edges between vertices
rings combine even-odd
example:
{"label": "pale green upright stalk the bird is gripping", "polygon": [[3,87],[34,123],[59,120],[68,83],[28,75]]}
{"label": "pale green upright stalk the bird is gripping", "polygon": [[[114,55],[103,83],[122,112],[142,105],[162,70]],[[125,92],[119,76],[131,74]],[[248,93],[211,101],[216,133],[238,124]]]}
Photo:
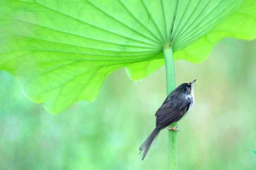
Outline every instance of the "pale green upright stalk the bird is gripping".
{"label": "pale green upright stalk the bird is gripping", "polygon": [[[163,49],[165,59],[165,71],[166,71],[166,89],[167,96],[175,89],[175,69],[173,60],[173,49],[170,43]],[[177,123],[173,123],[172,126],[176,126]],[[178,169],[178,133],[177,131],[168,130],[168,144],[169,144],[169,169]]]}

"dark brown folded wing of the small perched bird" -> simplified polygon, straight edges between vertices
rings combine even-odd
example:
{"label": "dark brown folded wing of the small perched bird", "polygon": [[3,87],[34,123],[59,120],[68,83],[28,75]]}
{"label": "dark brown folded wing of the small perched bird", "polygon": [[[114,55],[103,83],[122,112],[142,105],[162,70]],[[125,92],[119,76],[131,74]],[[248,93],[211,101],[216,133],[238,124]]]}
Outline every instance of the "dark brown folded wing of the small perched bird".
{"label": "dark brown folded wing of the small perched bird", "polygon": [[171,102],[163,104],[155,113],[157,117],[156,126],[162,129],[180,120],[189,109],[189,106],[190,100],[183,101],[178,107],[174,107]]}

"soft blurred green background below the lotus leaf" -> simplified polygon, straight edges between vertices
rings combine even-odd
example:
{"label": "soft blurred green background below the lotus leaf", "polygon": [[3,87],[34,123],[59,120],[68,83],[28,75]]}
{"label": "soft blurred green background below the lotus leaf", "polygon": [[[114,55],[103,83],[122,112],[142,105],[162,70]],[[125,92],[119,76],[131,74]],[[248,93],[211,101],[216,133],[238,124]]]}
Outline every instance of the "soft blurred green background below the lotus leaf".
{"label": "soft blurred green background below the lotus leaf", "polygon": [[[180,170],[255,170],[256,41],[224,39],[200,64],[175,61],[177,85],[197,79],[196,103],[179,123]],[[98,99],[58,115],[33,104],[0,71],[0,170],[161,170],[167,130],[141,161],[166,96],[165,69],[142,81],[112,73]]]}

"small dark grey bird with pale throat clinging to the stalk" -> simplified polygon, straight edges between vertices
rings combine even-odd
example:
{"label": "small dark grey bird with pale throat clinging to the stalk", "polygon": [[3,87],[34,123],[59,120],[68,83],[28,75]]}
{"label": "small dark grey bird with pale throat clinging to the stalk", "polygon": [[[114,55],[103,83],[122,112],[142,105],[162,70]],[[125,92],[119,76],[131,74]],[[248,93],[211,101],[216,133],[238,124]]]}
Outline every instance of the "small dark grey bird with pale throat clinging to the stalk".
{"label": "small dark grey bird with pale throat clinging to the stalk", "polygon": [[[155,129],[151,132],[150,136],[144,141],[140,147],[140,153],[143,151],[142,160],[148,153],[151,144],[158,136],[159,132],[165,127],[181,120],[195,103],[194,97],[194,83],[183,83],[173,90],[164,100],[162,106],[155,113]],[[178,127],[170,127],[168,130],[178,131]]]}

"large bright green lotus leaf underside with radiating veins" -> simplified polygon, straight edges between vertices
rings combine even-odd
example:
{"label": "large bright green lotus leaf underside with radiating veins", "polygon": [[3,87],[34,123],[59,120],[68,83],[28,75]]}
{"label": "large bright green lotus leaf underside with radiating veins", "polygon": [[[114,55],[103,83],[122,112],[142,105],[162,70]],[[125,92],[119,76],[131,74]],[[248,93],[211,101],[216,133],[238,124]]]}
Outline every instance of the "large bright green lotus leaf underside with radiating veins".
{"label": "large bright green lotus leaf underside with radiating veins", "polygon": [[105,78],[133,80],[175,59],[205,60],[224,37],[256,37],[255,0],[1,0],[0,69],[59,113],[93,101]]}

